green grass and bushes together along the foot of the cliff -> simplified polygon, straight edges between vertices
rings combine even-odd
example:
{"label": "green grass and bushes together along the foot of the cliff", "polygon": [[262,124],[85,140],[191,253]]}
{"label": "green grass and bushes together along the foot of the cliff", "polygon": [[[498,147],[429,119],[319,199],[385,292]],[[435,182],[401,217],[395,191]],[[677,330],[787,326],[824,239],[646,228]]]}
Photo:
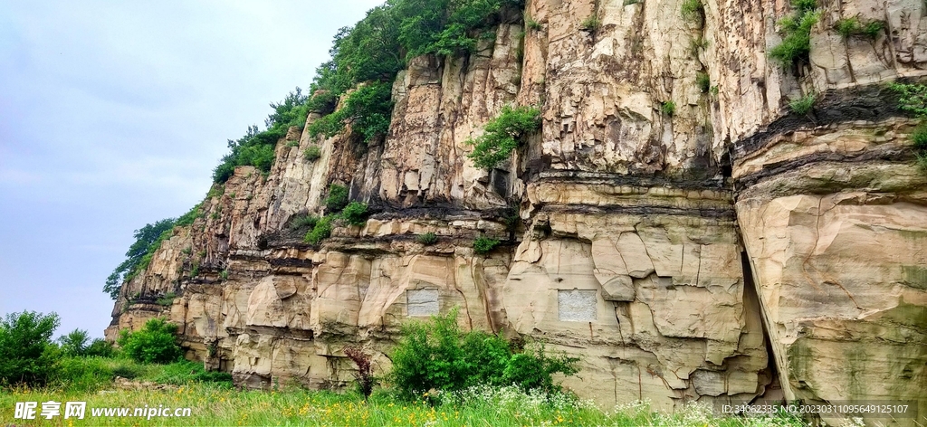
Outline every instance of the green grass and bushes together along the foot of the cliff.
{"label": "green grass and bushes together along the foot of the cliff", "polygon": [[[138,425],[138,417],[104,416],[95,410],[147,406],[189,408],[188,416],[143,421],[177,426],[805,425],[785,415],[717,418],[707,405],[690,405],[674,414],[654,410],[647,402],[599,408],[590,400],[560,390],[552,380],[552,372],[575,373],[575,358],[547,352],[539,343],[520,345],[499,335],[465,333],[456,319],[456,310],[452,310],[404,328],[406,335],[400,343],[404,347],[398,347],[397,354],[400,364],[405,363],[401,369],[408,374],[403,378],[410,380],[408,384],[417,384],[408,392],[391,383],[388,375],[384,378],[386,386],[380,385],[383,382],[375,377],[371,358],[359,348],[345,347],[345,355],[359,367],[362,393],[357,394],[310,391],[286,380],[274,382],[271,390],[235,390],[232,375],[205,370],[202,362],[141,363],[128,358],[124,349],[114,350],[102,340],[86,345],[87,335],[81,331],[59,338],[59,347],[50,339],[57,315],[13,313],[0,321],[0,420],[19,421],[15,411],[22,402],[37,402],[33,421],[42,422],[42,403],[85,402],[83,418],[64,420],[62,408],[51,422]],[[163,320],[153,322],[158,326],[146,326],[143,331],[170,329],[164,327]],[[107,348],[108,355],[89,355],[93,347]],[[26,367],[37,375],[9,374],[9,367]],[[121,378],[117,381],[117,377]],[[417,379],[425,383],[417,383]],[[424,388],[432,385],[437,386]],[[25,422],[31,425],[33,421]]]}

